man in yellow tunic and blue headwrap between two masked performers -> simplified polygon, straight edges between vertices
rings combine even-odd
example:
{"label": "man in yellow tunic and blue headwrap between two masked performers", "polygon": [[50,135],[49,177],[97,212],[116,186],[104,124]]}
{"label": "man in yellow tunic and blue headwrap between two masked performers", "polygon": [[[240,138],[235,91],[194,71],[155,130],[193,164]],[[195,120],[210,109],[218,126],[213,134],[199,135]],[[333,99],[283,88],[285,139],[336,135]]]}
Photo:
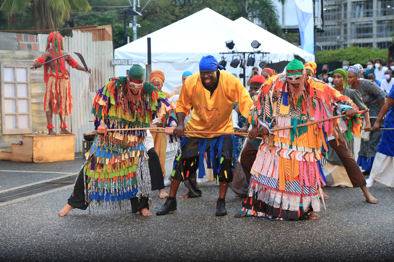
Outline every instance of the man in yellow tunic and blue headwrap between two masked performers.
{"label": "man in yellow tunic and blue headwrap between two masked performers", "polygon": [[[168,214],[177,209],[175,197],[180,181],[195,179],[197,169],[199,178],[203,178],[204,159],[219,182],[216,216],[227,214],[225,196],[229,182],[232,181],[232,169],[235,169],[235,140],[233,135],[214,132],[233,132],[230,117],[233,103],[238,103],[242,115],[248,117],[253,101],[238,78],[226,72],[223,66],[219,66],[212,55],[201,59],[199,69],[199,73],[186,79],[182,88],[176,109],[179,126],[173,130],[178,136],[183,136],[185,130],[206,131],[208,134],[190,134],[190,137],[183,138],[174,160],[169,198],[157,211],[157,215]],[[185,128],[183,121],[189,115],[191,107],[191,118]]]}

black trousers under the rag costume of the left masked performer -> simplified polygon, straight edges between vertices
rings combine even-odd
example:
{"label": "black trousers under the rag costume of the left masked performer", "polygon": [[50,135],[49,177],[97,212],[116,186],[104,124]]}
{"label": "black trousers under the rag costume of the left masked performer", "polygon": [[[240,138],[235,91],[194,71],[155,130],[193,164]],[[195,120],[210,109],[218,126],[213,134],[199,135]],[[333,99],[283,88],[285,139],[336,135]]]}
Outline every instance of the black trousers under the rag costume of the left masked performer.
{"label": "black trousers under the rag costume of the left masked performer", "polygon": [[[81,171],[79,172],[76,178],[74,191],[72,192],[71,196],[67,200],[67,203],[74,208],[86,210],[87,207],[89,206],[89,203],[85,202],[85,183],[86,180],[84,179],[84,169],[81,169]],[[143,208],[149,209],[147,197],[141,197],[139,199],[130,198],[130,203],[131,203],[132,213],[137,213]]]}

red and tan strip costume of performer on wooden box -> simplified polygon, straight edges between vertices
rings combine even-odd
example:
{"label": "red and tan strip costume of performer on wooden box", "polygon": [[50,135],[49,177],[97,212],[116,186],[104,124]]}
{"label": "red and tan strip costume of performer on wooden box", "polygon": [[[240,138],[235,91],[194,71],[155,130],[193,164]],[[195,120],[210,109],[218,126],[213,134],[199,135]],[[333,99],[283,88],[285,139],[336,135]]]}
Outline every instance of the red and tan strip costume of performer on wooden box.
{"label": "red and tan strip costume of performer on wooden box", "polygon": [[[63,40],[59,31],[49,34],[46,40],[45,51],[50,51],[53,59],[64,55]],[[37,59],[38,62],[45,62],[43,57]],[[44,98],[44,110],[51,111],[54,114],[70,115],[72,110],[72,95],[70,85],[70,73],[65,68],[64,59],[58,59],[55,62],[55,70],[51,70],[49,64],[44,65],[44,80],[46,83],[46,92]],[[74,59],[67,60],[67,63],[75,68],[78,63]],[[58,64],[60,71],[58,71]]]}

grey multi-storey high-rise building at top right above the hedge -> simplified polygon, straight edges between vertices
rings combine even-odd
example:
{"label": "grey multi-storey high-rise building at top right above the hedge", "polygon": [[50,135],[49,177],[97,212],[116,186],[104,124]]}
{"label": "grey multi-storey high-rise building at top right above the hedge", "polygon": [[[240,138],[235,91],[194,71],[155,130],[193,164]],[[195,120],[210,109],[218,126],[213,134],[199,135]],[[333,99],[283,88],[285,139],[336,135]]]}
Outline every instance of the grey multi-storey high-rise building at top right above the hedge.
{"label": "grey multi-storey high-rise building at top right above the hedge", "polygon": [[324,32],[316,49],[387,48],[394,38],[394,0],[325,0]]}

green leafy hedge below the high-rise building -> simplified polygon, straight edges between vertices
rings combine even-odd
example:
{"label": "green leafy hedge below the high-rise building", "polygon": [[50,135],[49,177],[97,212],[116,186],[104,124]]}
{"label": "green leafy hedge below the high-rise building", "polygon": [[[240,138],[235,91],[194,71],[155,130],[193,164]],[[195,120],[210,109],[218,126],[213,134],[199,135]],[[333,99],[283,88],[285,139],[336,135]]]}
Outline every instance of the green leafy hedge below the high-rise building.
{"label": "green leafy hedge below the high-rise building", "polygon": [[316,63],[326,64],[330,62],[349,61],[350,64],[366,64],[367,60],[375,58],[385,59],[387,49],[372,49],[368,47],[348,46],[342,49],[325,50],[316,52]]}

